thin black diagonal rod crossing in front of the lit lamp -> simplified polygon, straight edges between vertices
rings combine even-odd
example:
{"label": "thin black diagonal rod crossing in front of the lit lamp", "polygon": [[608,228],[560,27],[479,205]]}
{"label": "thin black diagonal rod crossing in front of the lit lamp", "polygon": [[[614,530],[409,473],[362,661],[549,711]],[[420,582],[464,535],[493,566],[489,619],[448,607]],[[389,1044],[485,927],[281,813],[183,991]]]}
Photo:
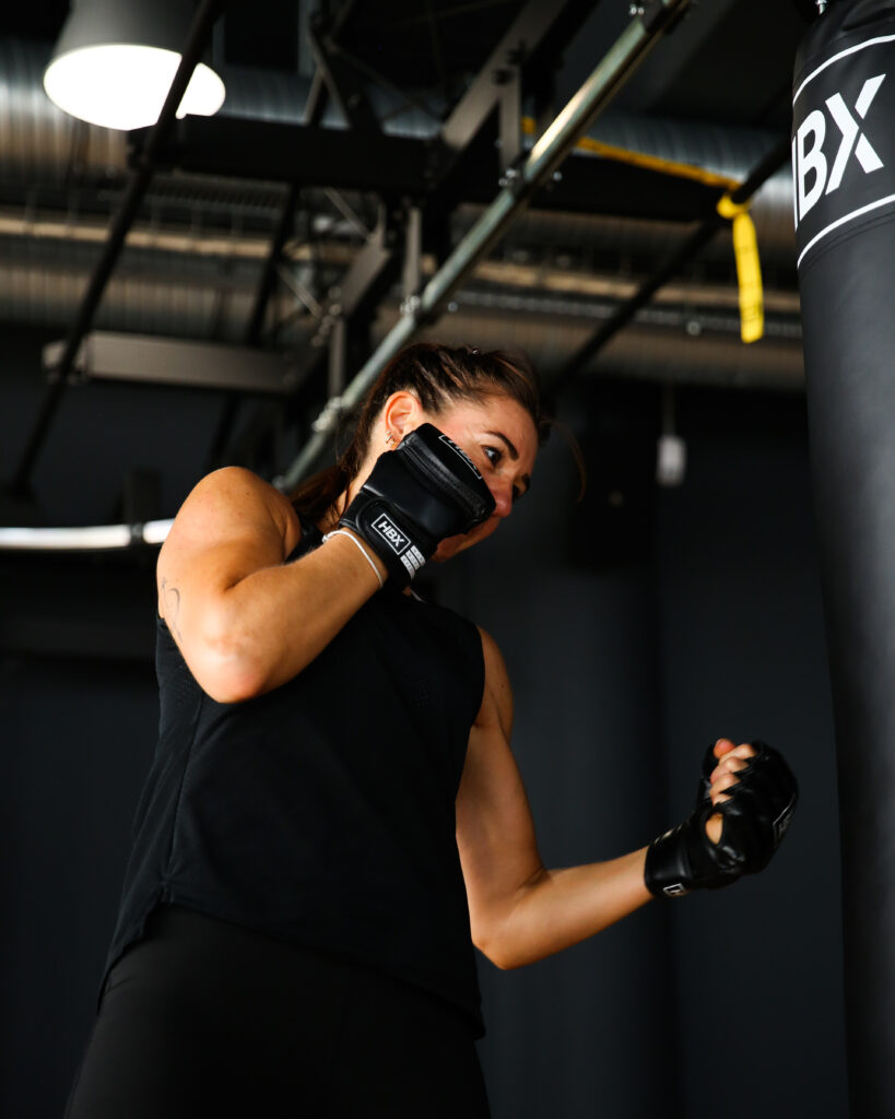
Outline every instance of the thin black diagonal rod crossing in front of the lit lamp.
{"label": "thin black diagonal rod crossing in front of the lit lamp", "polygon": [[68,375],[74,368],[82,339],[91,328],[93,317],[96,313],[121,251],[124,247],[128,231],[133,225],[140,209],[140,204],[143,200],[143,195],[147,192],[147,188],[154,173],[158,151],[175,123],[177,110],[180,107],[180,102],[187,92],[192,72],[196,69],[208,46],[211,37],[211,28],[220,15],[222,8],[223,0],[202,0],[201,7],[196,13],[190,27],[188,41],[180,58],[180,65],[171,82],[171,88],[168,91],[168,96],[164,100],[164,105],[158,121],[149,131],[141,160],[131,179],[121,209],[112,224],[105,248],[91,276],[90,284],[78,309],[77,318],[68,335],[65,350],[55,370],[56,379],[49,386],[40,413],[26,443],[22,457],[19,460],[19,466],[11,482],[13,493],[23,495],[28,491],[31,471],[62,402],[68,383]]}

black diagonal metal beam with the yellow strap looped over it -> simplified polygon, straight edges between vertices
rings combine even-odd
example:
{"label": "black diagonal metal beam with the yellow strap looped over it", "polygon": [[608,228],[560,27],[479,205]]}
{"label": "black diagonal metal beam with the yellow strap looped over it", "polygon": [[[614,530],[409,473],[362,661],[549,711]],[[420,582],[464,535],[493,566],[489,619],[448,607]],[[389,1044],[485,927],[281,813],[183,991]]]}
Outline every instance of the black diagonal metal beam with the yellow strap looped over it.
{"label": "black diagonal metal beam with the yellow strap looped over it", "polygon": [[[760,187],[778,171],[790,158],[790,141],[782,139],[761,160],[750,177],[731,192],[731,200],[736,205],[747,203]],[[624,303],[621,303],[611,318],[596,330],[584,345],[568,359],[550,384],[552,393],[558,395],[568,388],[569,384],[577,377],[594,356],[613,338],[622,327],[625,327],[641,308],[652,299],[656,292],[668,283],[680,269],[693,260],[722,229],[727,225],[727,218],[718,214],[717,208],[713,209],[693,233],[686,237],[677,248],[667,253],[654,272],[639,290]]]}

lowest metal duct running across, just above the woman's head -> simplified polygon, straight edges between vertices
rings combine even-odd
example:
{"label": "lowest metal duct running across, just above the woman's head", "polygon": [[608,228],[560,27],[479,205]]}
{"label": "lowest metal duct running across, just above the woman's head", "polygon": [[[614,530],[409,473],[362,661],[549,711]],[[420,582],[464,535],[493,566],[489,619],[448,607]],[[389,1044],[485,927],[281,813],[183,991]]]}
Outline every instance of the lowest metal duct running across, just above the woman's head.
{"label": "lowest metal duct running across, just above the woman's head", "polygon": [[[88,272],[87,253],[69,244],[67,260],[60,262],[46,245],[27,247],[32,254],[27,263],[0,267],[0,307],[17,322],[58,326],[77,307]],[[194,258],[188,271],[183,263],[182,254],[129,254],[109,285],[96,329],[239,342],[252,309],[255,267],[236,262],[222,276],[217,260]],[[175,267],[178,264],[180,272]],[[279,299],[276,316],[283,318],[289,297],[282,292]],[[480,284],[461,292],[453,305],[453,313],[424,337],[482,349],[521,349],[545,373],[560,367],[612,307],[605,299],[550,298]],[[394,326],[398,313],[397,299],[385,304],[374,327],[376,341]],[[301,318],[281,340],[305,345],[313,327],[310,317]],[[734,308],[657,305],[613,340],[601,354],[599,368],[619,376],[725,386],[802,387],[798,326],[769,321],[767,336],[757,346],[743,346],[738,329]]]}

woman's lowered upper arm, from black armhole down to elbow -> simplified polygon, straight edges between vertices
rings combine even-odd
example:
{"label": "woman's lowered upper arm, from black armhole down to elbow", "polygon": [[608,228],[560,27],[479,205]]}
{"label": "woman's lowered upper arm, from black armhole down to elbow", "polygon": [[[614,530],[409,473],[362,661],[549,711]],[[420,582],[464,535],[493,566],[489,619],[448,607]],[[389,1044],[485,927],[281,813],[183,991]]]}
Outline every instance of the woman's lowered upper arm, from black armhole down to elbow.
{"label": "woman's lowered upper arm, from black armhole down to elbow", "polygon": [[510,749],[512,693],[507,669],[493,638],[481,633],[484,689],[456,798],[456,843],[473,940],[487,953],[496,925],[543,863]]}

